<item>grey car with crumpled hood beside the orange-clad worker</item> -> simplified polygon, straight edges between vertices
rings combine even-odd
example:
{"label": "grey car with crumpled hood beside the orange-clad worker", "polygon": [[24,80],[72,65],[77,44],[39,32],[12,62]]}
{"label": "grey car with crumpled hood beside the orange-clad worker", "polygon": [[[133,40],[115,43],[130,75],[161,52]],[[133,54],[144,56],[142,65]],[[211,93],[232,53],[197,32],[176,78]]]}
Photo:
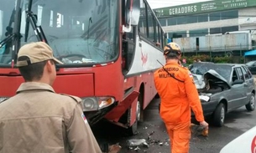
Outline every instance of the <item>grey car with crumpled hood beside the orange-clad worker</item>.
{"label": "grey car with crumpled hood beside the orange-clad worker", "polygon": [[243,105],[255,109],[253,75],[245,64],[195,63],[190,70],[204,115],[212,115],[214,125],[222,126],[226,113]]}

